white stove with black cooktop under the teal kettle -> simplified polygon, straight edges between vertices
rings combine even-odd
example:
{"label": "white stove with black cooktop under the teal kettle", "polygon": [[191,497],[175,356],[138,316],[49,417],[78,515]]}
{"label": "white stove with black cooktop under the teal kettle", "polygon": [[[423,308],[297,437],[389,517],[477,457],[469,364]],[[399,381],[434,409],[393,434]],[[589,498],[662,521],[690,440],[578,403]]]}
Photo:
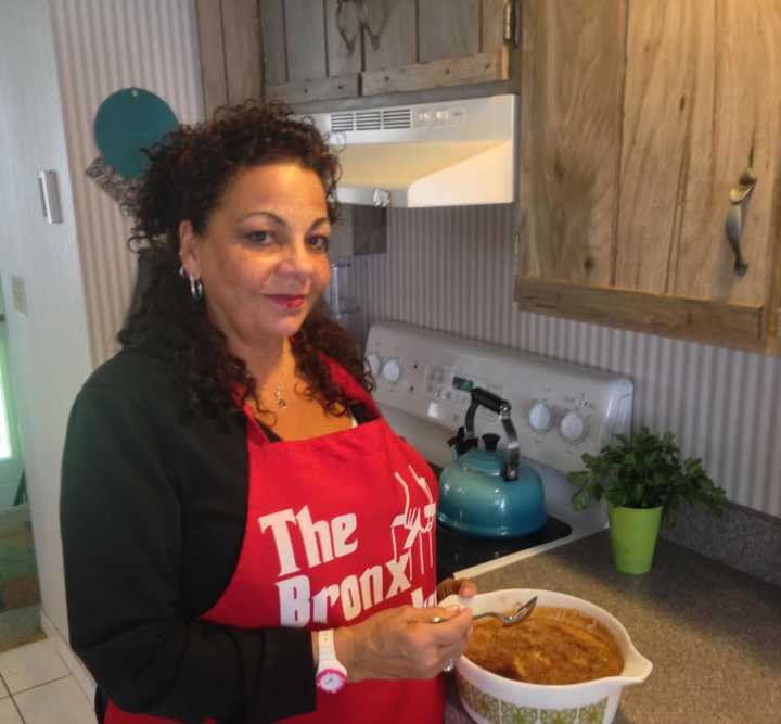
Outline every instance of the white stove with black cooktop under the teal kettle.
{"label": "white stove with black cooktop under the teal kettle", "polygon": [[[631,380],[398,322],[373,325],[366,355],[383,415],[437,474],[451,462],[447,441],[469,407],[469,393],[452,386],[453,377],[460,377],[511,403],[521,455],[542,479],[548,521],[530,535],[484,539],[438,524],[440,577],[477,575],[606,526],[604,503],[584,512],[572,509],[574,488],[566,474],[582,467],[584,453],[597,454],[615,434],[628,434]],[[481,408],[475,433],[488,432],[502,435],[503,430],[496,414]]]}

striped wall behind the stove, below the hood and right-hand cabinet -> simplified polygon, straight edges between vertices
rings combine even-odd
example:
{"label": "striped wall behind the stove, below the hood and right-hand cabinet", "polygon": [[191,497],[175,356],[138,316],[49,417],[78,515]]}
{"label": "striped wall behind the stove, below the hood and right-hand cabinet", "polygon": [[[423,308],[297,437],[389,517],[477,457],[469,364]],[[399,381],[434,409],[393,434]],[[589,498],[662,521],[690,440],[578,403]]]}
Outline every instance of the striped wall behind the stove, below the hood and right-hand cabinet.
{"label": "striped wall behind the stove, below the hood and right-hand cabinet", "polygon": [[781,517],[781,359],[521,313],[510,206],[394,209],[387,254],[356,257],[350,326],[395,319],[628,374],[635,424],[668,429],[730,500]]}

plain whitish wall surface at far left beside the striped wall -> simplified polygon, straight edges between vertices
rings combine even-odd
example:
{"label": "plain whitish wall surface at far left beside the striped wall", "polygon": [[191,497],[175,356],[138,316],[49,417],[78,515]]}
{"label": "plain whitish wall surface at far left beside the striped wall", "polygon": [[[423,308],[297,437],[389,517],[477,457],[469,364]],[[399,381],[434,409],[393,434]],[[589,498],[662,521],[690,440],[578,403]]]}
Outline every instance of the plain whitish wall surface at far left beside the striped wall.
{"label": "plain whitish wall surface at far left beside the striped wall", "polygon": [[[91,360],[47,0],[0,18],[0,271],[43,610],[67,632],[57,504],[67,415]],[[64,223],[41,214],[37,173],[55,169]],[[24,284],[24,313],[11,277]]]}

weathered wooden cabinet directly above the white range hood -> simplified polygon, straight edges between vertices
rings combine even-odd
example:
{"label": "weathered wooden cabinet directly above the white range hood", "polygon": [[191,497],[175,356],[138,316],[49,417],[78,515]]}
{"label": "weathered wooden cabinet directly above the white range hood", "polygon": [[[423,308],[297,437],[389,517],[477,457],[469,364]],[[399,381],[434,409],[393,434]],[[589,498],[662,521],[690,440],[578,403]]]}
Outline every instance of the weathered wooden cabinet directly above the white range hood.
{"label": "weathered wooden cabinet directly above the white range hood", "polygon": [[518,0],[197,0],[206,110],[507,82],[518,16]]}

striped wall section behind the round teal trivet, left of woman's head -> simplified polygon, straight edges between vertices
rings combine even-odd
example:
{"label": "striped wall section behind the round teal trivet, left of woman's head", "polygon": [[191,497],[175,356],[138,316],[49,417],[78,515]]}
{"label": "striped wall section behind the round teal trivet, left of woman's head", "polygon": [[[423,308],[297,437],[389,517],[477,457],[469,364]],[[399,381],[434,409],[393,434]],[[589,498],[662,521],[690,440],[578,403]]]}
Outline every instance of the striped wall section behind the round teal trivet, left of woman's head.
{"label": "striped wall section behind the round teal trivet, left of woman's head", "polygon": [[163,98],[184,123],[202,116],[192,0],[51,0],[76,224],[95,365],[116,350],[136,274],[130,224],[85,170],[99,155],[92,124],[116,90]]}

